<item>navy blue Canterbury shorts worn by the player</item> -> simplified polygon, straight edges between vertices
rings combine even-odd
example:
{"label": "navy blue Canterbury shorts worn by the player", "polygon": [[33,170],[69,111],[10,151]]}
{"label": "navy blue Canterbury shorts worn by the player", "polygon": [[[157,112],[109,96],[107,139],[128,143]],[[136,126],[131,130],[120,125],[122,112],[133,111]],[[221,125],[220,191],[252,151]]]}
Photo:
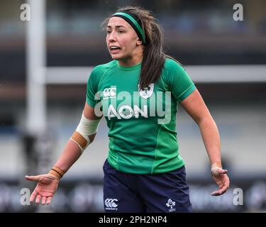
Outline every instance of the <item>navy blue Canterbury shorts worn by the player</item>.
{"label": "navy blue Canterbury shorts worn by the player", "polygon": [[103,169],[106,212],[192,212],[184,166],[158,175],[134,175],[119,172],[106,160]]}

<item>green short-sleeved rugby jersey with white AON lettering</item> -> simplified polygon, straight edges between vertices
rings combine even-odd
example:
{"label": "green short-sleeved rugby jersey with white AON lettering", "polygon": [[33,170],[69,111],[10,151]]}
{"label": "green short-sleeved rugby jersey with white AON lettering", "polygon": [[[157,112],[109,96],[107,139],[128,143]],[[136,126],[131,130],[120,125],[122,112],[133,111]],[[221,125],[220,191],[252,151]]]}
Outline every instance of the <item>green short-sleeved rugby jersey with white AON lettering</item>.
{"label": "green short-sleeved rugby jersey with white AON lettering", "polygon": [[132,174],[169,172],[184,165],[176,131],[178,102],[196,87],[177,62],[166,58],[160,79],[139,91],[140,68],[141,63],[121,67],[117,60],[94,67],[87,104],[106,118],[112,167]]}

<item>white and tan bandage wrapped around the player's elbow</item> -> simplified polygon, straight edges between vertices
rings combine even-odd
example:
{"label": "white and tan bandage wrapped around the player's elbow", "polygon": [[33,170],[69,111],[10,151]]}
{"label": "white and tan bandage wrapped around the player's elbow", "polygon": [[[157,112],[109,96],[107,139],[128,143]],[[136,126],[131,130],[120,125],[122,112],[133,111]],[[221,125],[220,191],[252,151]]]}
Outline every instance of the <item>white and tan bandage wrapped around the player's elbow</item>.
{"label": "white and tan bandage wrapped around the player's elbow", "polygon": [[70,138],[70,140],[74,141],[74,143],[77,143],[82,153],[87,146],[92,143],[91,140],[89,140],[89,135],[92,135],[98,131],[100,121],[101,118],[90,120],[82,113],[82,118],[79,122],[79,125]]}

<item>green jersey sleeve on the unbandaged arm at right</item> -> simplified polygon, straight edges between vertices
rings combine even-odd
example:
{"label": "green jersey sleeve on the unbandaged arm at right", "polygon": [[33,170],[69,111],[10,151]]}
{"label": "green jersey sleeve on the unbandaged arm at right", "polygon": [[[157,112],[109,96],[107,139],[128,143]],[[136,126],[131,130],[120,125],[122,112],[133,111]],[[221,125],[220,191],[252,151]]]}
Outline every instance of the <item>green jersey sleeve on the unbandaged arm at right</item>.
{"label": "green jersey sleeve on the unbandaged arm at right", "polygon": [[189,74],[187,74],[181,65],[177,62],[172,62],[171,65],[172,67],[169,71],[170,90],[174,99],[181,102],[186,99],[189,94],[192,94],[196,87],[189,77]]}

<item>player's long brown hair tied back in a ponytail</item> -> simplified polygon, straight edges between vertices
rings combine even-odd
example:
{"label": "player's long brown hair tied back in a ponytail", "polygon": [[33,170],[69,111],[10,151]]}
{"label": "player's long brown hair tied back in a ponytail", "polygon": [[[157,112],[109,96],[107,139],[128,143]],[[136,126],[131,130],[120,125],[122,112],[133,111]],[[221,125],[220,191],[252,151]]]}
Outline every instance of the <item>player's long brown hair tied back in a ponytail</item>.
{"label": "player's long brown hair tied back in a ponytail", "polygon": [[[139,78],[140,89],[144,89],[145,87],[148,87],[149,84],[155,83],[158,79],[160,79],[162,67],[165,63],[165,57],[169,57],[172,60],[175,59],[169,55],[165,55],[163,52],[162,27],[150,11],[140,8],[140,6],[126,6],[119,8],[116,13],[117,12],[128,12],[140,18],[141,27],[143,28],[146,38]],[[111,16],[106,18],[101,26],[106,26],[110,18]],[[177,60],[175,61],[178,62]]]}

